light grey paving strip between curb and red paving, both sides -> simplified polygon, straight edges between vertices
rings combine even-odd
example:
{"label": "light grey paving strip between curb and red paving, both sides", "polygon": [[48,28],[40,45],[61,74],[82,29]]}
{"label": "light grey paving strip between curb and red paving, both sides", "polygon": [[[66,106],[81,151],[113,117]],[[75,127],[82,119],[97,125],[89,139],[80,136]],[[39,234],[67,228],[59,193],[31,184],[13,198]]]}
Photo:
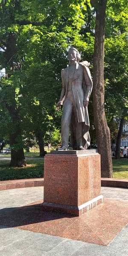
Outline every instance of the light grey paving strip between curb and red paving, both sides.
{"label": "light grey paving strip between curb and red paving, both sides", "polygon": [[[104,198],[113,198],[128,201],[128,189],[102,187]],[[44,187],[30,187],[0,191],[0,209],[22,207],[44,197]]]}

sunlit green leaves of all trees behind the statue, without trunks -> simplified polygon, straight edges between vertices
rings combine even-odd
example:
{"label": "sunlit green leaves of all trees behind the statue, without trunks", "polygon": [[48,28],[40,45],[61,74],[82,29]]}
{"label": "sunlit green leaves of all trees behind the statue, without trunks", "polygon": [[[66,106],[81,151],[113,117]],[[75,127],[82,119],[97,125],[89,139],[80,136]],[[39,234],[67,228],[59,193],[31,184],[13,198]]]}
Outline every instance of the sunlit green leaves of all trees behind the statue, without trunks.
{"label": "sunlit green leaves of all trees behind the statue, without trunks", "polygon": [[[108,0],[105,26],[105,111],[108,122],[121,116],[128,105],[128,9],[126,0]],[[15,133],[9,107],[18,111],[22,134],[13,148],[27,145],[25,138],[41,134],[53,144],[60,140],[61,112],[55,111],[61,93],[61,69],[67,67],[67,51],[73,46],[81,60],[90,61],[93,72],[95,9],[89,0],[0,1],[0,39],[15,33],[15,72],[5,61],[1,41],[0,67],[8,77],[0,81],[0,135]],[[13,48],[13,47],[12,47]],[[8,105],[8,106],[7,106]],[[96,140],[93,99],[90,99],[90,134]],[[113,129],[112,129],[113,133]],[[112,134],[112,136],[116,136]]]}

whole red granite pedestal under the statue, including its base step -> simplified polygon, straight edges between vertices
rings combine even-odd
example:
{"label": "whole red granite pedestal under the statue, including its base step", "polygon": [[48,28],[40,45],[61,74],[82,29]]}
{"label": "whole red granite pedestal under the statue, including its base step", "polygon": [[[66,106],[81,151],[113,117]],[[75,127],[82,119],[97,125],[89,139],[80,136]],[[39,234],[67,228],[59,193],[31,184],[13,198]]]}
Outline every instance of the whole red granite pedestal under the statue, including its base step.
{"label": "whole red granite pedestal under the statue, including its base step", "polygon": [[96,150],[51,151],[44,157],[42,210],[79,216],[102,202]]}

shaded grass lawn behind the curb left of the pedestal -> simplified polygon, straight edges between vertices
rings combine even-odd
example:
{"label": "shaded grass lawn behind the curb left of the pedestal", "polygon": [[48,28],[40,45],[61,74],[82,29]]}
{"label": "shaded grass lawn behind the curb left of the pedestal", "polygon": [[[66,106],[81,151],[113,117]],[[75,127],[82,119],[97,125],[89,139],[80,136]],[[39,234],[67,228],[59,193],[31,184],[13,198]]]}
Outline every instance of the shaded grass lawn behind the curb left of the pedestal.
{"label": "shaded grass lawn behind the curb left of the pedestal", "polygon": [[26,167],[9,167],[9,160],[0,161],[0,180],[18,180],[44,177],[44,159],[26,160]]}

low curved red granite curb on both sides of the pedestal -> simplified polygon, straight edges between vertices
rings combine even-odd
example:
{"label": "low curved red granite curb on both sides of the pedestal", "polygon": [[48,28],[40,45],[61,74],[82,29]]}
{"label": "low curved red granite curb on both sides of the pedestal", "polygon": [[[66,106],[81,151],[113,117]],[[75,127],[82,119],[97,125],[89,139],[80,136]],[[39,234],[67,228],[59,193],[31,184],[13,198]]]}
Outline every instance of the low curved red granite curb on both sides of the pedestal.
{"label": "low curved red granite curb on both sides of the pedestal", "polygon": [[[44,178],[0,181],[0,191],[34,186],[44,186]],[[101,186],[128,188],[128,179],[101,178]]]}

